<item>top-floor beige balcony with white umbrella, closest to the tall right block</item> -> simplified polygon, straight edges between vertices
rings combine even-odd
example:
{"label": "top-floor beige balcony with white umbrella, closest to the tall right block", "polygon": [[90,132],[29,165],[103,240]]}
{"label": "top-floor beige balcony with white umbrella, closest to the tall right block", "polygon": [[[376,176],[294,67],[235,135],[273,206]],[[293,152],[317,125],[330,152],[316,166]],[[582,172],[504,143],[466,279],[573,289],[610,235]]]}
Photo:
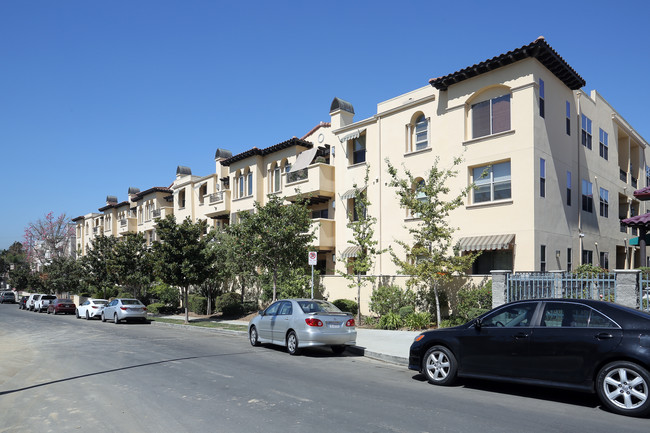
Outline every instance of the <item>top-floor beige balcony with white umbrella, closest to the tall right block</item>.
{"label": "top-floor beige balcony with white umbrella, closest to the tall right block", "polygon": [[303,196],[334,197],[334,166],[318,163],[304,170],[285,175],[284,196],[294,199],[298,192]]}

